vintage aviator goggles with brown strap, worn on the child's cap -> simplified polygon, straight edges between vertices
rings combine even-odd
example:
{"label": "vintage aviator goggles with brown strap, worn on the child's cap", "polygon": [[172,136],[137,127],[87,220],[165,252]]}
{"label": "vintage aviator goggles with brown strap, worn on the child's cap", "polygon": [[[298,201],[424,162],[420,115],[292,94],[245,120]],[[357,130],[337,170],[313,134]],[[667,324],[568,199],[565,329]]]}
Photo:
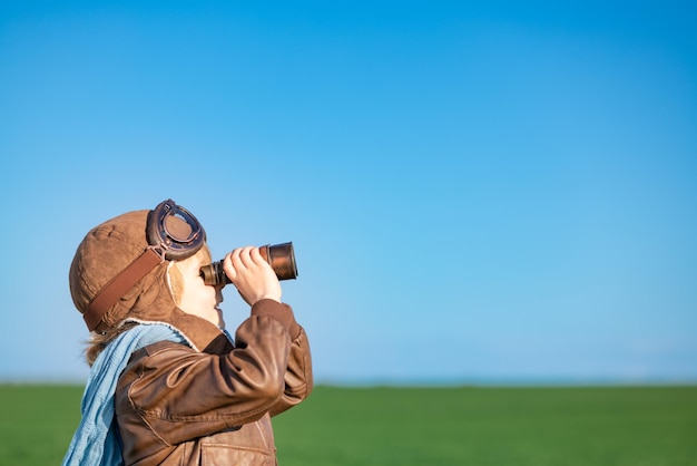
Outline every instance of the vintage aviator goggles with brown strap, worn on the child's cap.
{"label": "vintage aviator goggles with brown strap, worn on the child's cap", "polygon": [[148,246],[92,299],[82,315],[95,330],[109,309],[153,269],[165,261],[180,261],[196,254],[206,242],[206,232],[186,208],[167,200],[148,212]]}

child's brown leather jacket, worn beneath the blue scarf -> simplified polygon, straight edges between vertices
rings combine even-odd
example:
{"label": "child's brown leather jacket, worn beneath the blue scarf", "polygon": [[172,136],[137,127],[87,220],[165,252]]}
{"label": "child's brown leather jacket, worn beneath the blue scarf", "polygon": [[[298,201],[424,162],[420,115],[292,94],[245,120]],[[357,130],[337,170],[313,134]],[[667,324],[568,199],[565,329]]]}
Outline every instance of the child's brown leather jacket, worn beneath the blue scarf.
{"label": "child's brown leather jacket, worn beneath the blue scarf", "polygon": [[307,336],[271,300],[252,308],[234,348],[146,347],[116,390],[126,465],[276,465],[271,417],[312,387]]}

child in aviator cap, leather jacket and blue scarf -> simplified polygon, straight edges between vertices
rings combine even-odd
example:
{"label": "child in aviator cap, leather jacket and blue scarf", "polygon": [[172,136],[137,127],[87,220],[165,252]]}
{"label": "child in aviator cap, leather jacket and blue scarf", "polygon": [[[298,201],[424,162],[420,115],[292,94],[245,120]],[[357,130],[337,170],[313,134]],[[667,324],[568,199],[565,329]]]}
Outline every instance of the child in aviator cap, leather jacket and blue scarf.
{"label": "child in aviator cap, leather jacket and blue scarf", "polygon": [[271,417],[313,387],[307,336],[257,247],[224,270],[251,305],[234,342],[205,232],[173,201],[91,230],[70,292],[91,331],[82,420],[63,465],[275,465]]}

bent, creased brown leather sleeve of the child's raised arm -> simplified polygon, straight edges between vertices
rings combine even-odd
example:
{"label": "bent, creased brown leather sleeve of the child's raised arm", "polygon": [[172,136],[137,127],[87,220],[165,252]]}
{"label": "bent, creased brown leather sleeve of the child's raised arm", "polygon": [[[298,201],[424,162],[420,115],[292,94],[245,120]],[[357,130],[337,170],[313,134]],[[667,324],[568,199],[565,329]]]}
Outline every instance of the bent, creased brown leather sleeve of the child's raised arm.
{"label": "bent, creased brown leather sleeve of the child's raised arm", "polygon": [[[117,409],[129,406],[126,417],[140,417],[169,445],[253,423],[307,392],[310,356],[295,349],[307,348],[303,336],[289,307],[263,300],[237,329],[236,348],[227,355],[171,342],[141,350],[146,355],[134,358],[119,380]],[[292,356],[300,356],[302,369]]]}

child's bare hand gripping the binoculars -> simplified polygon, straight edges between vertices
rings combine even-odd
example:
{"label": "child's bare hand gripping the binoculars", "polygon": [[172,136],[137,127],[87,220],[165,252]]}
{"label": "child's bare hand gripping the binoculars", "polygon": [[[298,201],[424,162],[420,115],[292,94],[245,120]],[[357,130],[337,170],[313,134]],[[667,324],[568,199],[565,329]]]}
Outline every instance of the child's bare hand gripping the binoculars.
{"label": "child's bare hand gripping the binoculars", "polygon": [[227,254],[223,270],[249,305],[263,299],[281,302],[281,283],[276,272],[255,246],[238,247]]}

